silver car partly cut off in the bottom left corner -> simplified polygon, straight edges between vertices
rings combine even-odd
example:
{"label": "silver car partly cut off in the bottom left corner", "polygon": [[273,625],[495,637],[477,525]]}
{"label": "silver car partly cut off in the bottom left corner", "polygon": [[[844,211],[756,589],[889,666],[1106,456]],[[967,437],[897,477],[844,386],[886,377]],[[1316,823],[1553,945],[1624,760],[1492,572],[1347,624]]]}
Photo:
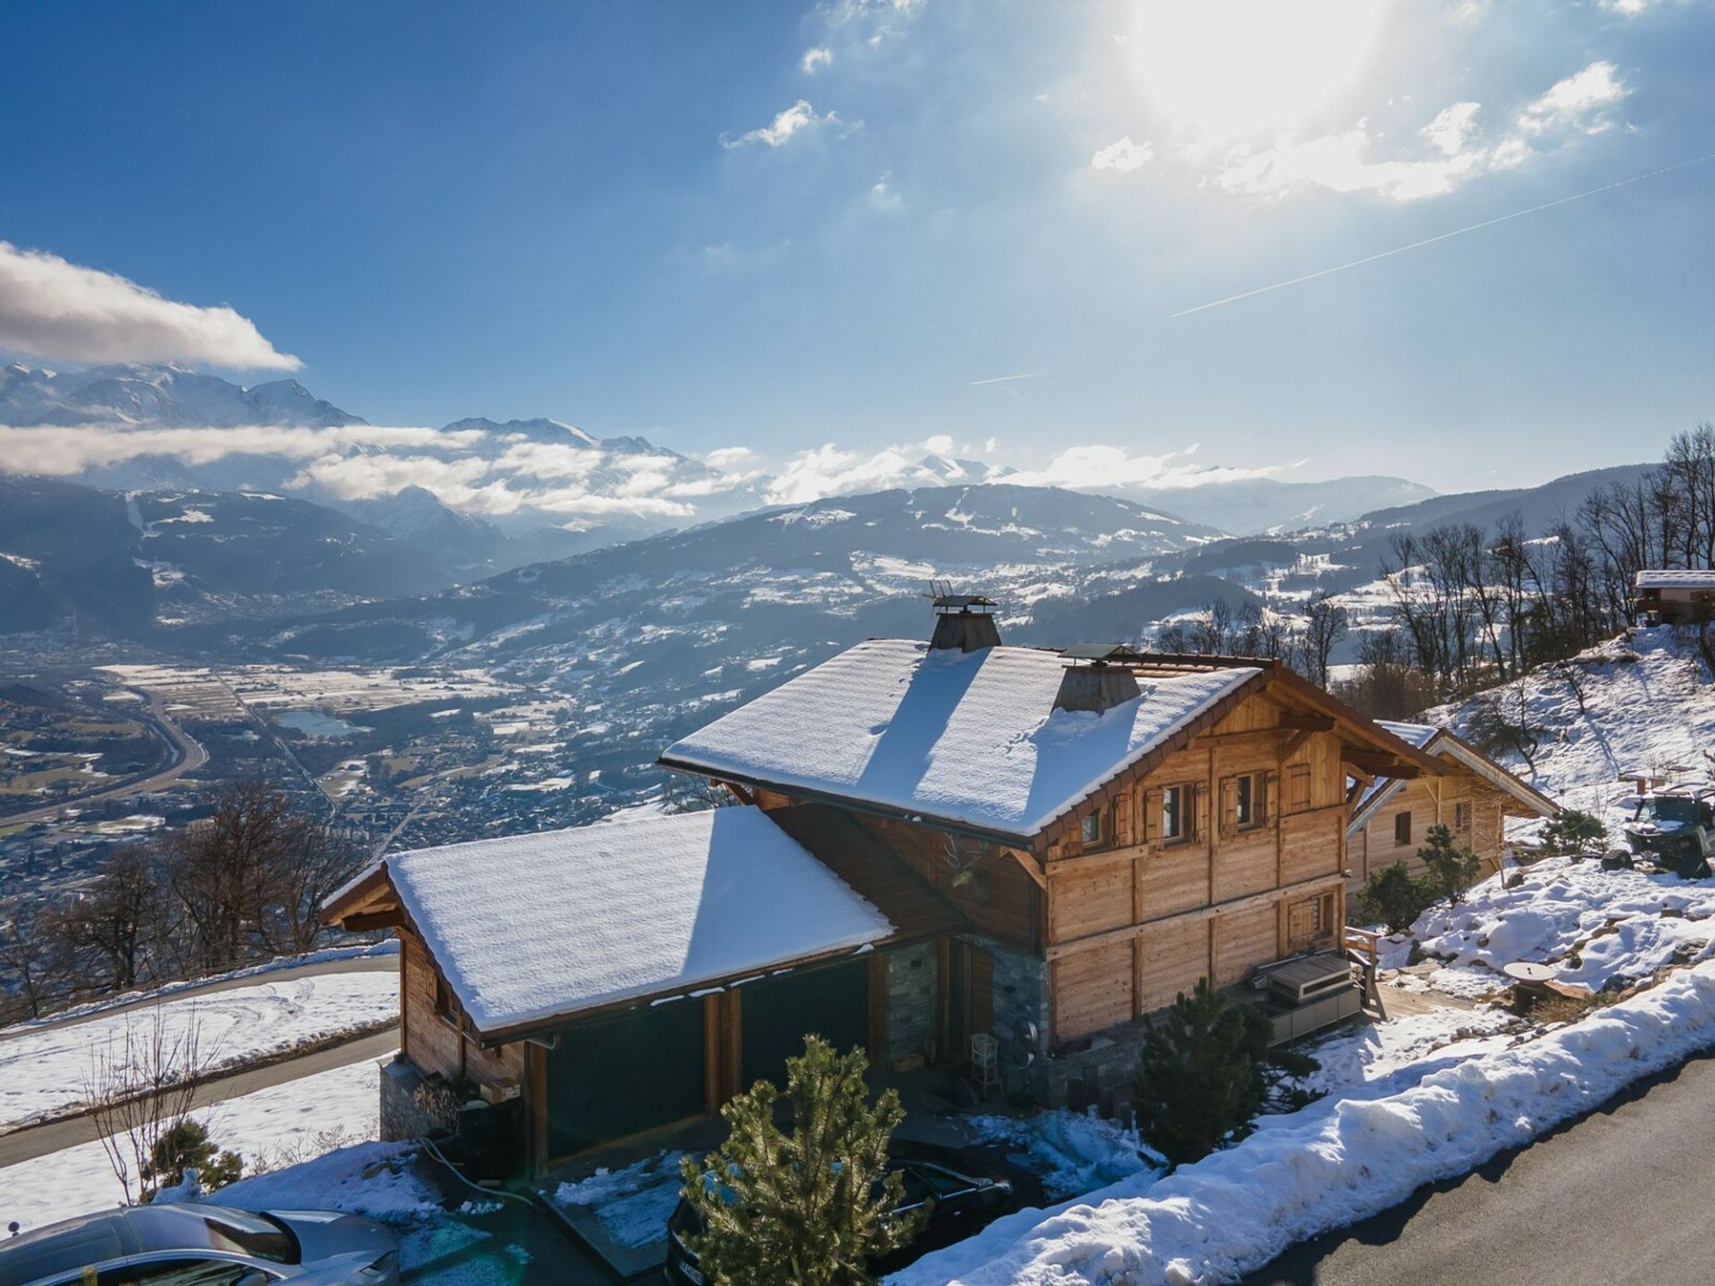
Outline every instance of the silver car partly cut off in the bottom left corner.
{"label": "silver car partly cut off in the bottom left corner", "polygon": [[0,1241],[0,1286],[398,1286],[400,1243],[333,1211],[134,1205]]}

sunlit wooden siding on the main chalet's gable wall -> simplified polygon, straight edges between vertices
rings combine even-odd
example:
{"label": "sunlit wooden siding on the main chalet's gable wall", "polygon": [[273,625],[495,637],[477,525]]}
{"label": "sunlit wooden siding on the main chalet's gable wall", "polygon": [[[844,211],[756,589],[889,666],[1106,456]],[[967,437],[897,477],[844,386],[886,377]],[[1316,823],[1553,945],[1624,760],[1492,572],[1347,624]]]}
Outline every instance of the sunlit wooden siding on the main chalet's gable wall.
{"label": "sunlit wooden siding on the main chalet's gable wall", "polygon": [[[1046,852],[1043,940],[1053,1039],[1170,1005],[1199,977],[1226,986],[1285,953],[1288,904],[1333,893],[1345,914],[1346,770],[1334,732],[1295,729],[1257,694],[1147,777],[1110,790],[1111,845],[1072,830]],[[1257,806],[1240,828],[1240,778]],[[1163,799],[1190,787],[1188,833],[1163,833]],[[1338,892],[1336,892],[1338,890]]]}

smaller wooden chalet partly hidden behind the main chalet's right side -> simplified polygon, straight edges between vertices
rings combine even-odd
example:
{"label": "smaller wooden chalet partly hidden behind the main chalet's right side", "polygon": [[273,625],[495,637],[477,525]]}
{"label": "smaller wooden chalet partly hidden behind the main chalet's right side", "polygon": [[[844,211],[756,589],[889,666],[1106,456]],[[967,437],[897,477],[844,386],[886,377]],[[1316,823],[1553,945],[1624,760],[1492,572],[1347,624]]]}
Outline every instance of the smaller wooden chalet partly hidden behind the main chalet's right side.
{"label": "smaller wooden chalet partly hidden behind the main chalet's right side", "polygon": [[1353,885],[1396,861],[1422,873],[1418,849],[1430,826],[1451,830],[1458,844],[1482,857],[1483,874],[1494,874],[1506,856],[1506,818],[1552,818],[1561,811],[1545,794],[1446,729],[1393,722],[1381,727],[1441,760],[1444,770],[1413,780],[1355,778],[1358,802],[1346,825]]}

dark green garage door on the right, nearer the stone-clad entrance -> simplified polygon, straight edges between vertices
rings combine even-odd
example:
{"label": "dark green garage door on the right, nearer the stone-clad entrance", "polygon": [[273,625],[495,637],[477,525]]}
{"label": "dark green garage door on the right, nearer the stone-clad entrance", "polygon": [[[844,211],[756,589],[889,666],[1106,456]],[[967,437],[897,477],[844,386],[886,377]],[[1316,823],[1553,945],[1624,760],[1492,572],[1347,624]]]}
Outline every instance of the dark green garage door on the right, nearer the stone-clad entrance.
{"label": "dark green garage door on the right, nearer the stone-clad entrance", "polygon": [[815,1032],[845,1053],[870,1044],[870,964],[780,974],[741,988],[744,1084],[768,1079],[785,1089],[785,1060],[804,1053]]}

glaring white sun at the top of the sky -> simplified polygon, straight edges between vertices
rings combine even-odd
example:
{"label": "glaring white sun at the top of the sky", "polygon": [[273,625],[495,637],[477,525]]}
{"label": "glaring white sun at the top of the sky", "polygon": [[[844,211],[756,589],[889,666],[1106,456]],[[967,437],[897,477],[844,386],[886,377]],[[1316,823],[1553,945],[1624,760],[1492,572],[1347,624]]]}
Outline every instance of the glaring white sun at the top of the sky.
{"label": "glaring white sun at the top of the sky", "polygon": [[1192,141],[1291,134],[1369,69],[1386,0],[1146,0],[1140,87]]}

